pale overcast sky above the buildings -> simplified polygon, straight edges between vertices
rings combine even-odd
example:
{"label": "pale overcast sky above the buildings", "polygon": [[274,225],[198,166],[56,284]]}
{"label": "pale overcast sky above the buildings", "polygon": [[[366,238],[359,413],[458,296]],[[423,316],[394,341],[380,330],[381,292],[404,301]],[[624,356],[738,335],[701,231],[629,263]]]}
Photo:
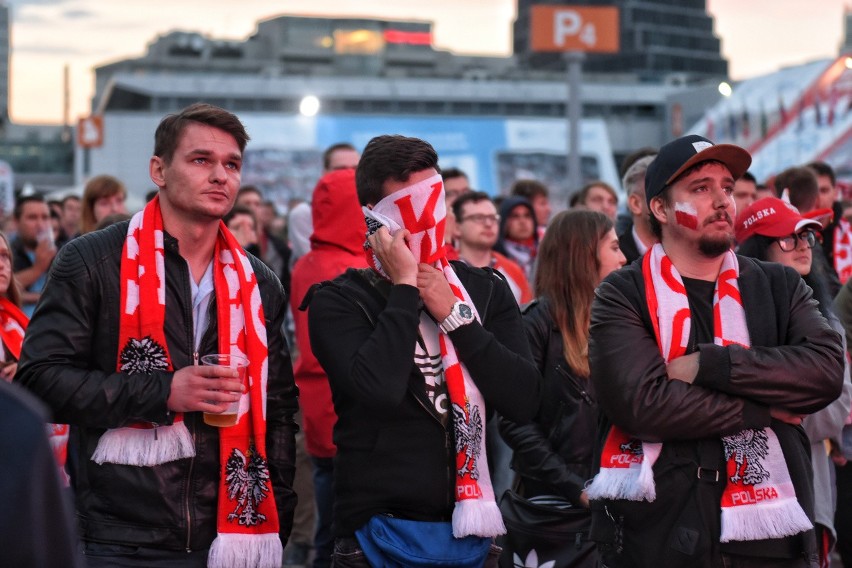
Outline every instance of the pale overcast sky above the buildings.
{"label": "pale overcast sky above the buildings", "polygon": [[[2,1],[2,0],[0,0]],[[171,30],[243,39],[260,19],[364,16],[435,23],[435,44],[458,53],[511,52],[514,0],[7,0],[12,6],[10,111],[16,122],[61,122],[63,68],[70,118],[88,113],[96,65],[137,57]],[[734,79],[836,55],[844,0],[707,0]]]}

